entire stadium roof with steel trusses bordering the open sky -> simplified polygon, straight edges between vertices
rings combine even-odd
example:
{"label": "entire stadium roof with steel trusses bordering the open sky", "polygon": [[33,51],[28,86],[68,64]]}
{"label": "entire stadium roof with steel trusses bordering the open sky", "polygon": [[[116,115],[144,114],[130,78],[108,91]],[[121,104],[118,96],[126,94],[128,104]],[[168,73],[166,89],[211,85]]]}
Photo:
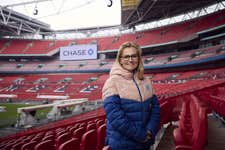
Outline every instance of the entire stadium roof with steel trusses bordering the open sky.
{"label": "entire stadium roof with steel trusses bordering the open sky", "polygon": [[[54,0],[16,0],[17,3],[11,4],[16,5],[27,5],[54,1]],[[114,4],[116,0],[109,0],[108,7],[110,4]],[[20,3],[18,3],[20,2]],[[65,1],[63,1],[65,2]],[[86,5],[92,1],[85,0]],[[203,9],[207,6],[224,2],[224,0],[121,0],[121,25],[108,26],[110,29],[113,28],[131,28],[136,25],[157,21],[160,19],[170,18],[179,14],[188,13],[197,9]],[[61,5],[63,5],[62,3]],[[60,9],[61,6],[60,5]],[[224,3],[222,3],[224,5]],[[41,5],[38,5],[38,8]],[[39,35],[54,35],[55,33],[63,32],[77,32],[89,30],[100,30],[106,29],[107,26],[96,27],[96,28],[81,28],[76,30],[53,30],[50,25],[26,16],[22,13],[16,12],[12,9],[8,9],[9,5],[1,6],[0,4],[0,37],[3,36],[23,36],[26,34],[39,34]],[[33,7],[32,7],[33,8]],[[36,7],[35,7],[36,8]],[[75,9],[75,8],[74,8]],[[36,9],[35,9],[36,10]],[[108,16],[109,17],[109,16]],[[60,20],[60,19],[59,19]],[[94,31],[96,32],[96,31]]]}

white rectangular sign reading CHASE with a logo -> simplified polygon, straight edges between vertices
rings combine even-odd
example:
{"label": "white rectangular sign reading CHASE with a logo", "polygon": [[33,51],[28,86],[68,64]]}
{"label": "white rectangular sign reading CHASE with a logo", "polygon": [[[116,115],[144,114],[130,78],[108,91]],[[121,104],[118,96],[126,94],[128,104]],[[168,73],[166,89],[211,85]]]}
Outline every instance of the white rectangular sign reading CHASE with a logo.
{"label": "white rectangular sign reading CHASE with a logo", "polygon": [[60,48],[60,60],[97,59],[97,45],[72,45]]}

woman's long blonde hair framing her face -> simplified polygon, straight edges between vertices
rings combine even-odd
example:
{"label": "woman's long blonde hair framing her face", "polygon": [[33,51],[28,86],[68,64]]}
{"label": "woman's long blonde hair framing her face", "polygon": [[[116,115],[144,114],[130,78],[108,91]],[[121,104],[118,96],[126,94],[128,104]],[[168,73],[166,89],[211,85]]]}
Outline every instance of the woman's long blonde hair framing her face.
{"label": "woman's long blonde hair framing her face", "polygon": [[134,42],[125,42],[125,43],[123,43],[120,46],[120,48],[119,48],[119,50],[117,52],[116,62],[121,65],[120,58],[121,58],[121,56],[123,54],[123,50],[125,48],[128,48],[128,47],[133,47],[133,48],[135,48],[137,50],[137,54],[138,54],[138,66],[136,68],[136,72],[137,72],[138,79],[143,80],[144,79],[144,65],[143,65],[143,61],[142,61],[142,57],[141,57],[142,49],[141,49],[141,47],[139,45],[137,45]]}

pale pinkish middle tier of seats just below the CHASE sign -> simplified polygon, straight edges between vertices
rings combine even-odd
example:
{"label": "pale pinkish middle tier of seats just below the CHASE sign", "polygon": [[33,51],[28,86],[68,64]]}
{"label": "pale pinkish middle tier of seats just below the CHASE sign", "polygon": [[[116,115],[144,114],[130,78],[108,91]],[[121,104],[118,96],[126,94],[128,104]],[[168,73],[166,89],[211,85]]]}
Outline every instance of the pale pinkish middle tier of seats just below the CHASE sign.
{"label": "pale pinkish middle tier of seats just below the CHASE sign", "polygon": [[[193,60],[200,60],[204,58],[214,57],[218,55],[223,55],[224,51],[217,53],[219,49],[222,49],[224,44],[215,45],[207,48],[200,48],[194,50],[188,50],[185,52],[172,52],[166,54],[145,55],[144,65],[154,66],[163,64],[175,64],[182,62],[189,62]],[[210,49],[210,51],[209,51]],[[198,53],[198,55],[196,54]],[[195,56],[195,57],[194,57]],[[112,59],[96,59],[96,60],[86,60],[86,61],[61,61],[58,58],[53,60],[45,61],[0,61],[1,71],[71,71],[71,70],[92,70],[92,69],[109,69],[113,64]]]}

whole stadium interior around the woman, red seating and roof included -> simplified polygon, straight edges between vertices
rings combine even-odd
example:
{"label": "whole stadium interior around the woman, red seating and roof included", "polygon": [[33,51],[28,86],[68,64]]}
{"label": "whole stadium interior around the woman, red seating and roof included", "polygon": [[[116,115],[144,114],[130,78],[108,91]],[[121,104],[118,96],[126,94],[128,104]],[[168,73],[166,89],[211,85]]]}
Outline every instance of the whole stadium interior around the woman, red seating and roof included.
{"label": "whole stadium interior around the woman, red seating and roof included", "polygon": [[[0,6],[0,116],[6,104],[24,104],[14,121],[1,120],[0,149],[106,149],[101,90],[126,41],[141,45],[160,102],[153,149],[224,149],[225,1],[122,0],[121,7],[119,26],[59,31]],[[111,29],[120,32],[97,34]],[[57,38],[71,32],[85,37]],[[60,59],[62,47],[88,44],[97,45],[96,59]]]}

